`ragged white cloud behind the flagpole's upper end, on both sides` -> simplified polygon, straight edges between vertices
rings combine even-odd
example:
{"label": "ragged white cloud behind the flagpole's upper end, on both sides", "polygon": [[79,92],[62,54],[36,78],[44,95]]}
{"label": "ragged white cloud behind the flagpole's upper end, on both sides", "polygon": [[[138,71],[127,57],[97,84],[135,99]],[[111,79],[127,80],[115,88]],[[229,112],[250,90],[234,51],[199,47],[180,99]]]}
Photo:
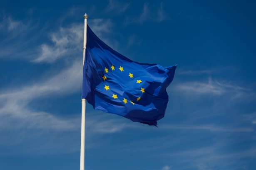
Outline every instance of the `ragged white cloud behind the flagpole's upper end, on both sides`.
{"label": "ragged white cloud behind the flagpole's upper end, on both sides", "polygon": [[[112,22],[109,19],[91,19],[89,25],[103,40],[106,38],[105,34],[109,34]],[[72,58],[79,56],[82,53],[83,43],[83,24],[72,24],[70,27],[60,27],[57,32],[51,34],[50,38],[52,44],[42,44],[40,46],[39,55],[32,60],[36,63],[53,63],[60,58]]]}

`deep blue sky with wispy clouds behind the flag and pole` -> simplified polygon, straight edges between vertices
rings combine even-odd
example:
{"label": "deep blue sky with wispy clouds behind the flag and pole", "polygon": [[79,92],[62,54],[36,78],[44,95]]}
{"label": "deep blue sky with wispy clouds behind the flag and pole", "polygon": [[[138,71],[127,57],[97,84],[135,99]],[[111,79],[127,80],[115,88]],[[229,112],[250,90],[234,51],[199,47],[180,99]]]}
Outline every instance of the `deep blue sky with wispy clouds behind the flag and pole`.
{"label": "deep blue sky with wispy clouds behind the flag and pole", "polygon": [[87,104],[86,170],[254,169],[255,5],[2,0],[0,169],[79,169],[84,13],[124,56],[178,64],[159,128]]}

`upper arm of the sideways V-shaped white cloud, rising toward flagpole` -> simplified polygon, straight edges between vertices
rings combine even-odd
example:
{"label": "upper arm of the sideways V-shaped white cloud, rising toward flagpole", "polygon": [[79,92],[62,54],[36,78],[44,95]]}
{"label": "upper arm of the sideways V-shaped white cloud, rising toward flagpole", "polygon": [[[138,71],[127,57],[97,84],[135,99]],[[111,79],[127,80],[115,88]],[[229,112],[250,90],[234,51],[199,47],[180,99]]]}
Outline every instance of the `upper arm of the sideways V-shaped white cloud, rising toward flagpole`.
{"label": "upper arm of the sideways V-shaped white cloud, rising toward flagpole", "polygon": [[47,95],[67,95],[77,92],[82,85],[82,62],[75,61],[70,67],[60,73],[51,76],[47,80],[40,80],[39,83],[32,83],[24,87],[17,87],[4,90],[0,94],[0,100],[32,100]]}

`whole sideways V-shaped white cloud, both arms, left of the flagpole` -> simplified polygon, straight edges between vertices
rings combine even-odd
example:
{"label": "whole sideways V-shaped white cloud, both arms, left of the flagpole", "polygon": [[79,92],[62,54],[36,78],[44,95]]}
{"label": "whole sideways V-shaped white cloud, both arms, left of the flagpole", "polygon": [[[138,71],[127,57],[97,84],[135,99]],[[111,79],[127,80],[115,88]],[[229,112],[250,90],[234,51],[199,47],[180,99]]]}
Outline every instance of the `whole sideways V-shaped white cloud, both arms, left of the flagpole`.
{"label": "whole sideways V-shaped white cloud, both arms, left of the flagpole", "polygon": [[2,103],[0,117],[2,120],[7,119],[9,121],[0,121],[0,126],[11,127],[7,126],[6,123],[12,124],[10,121],[17,121],[32,128],[74,130],[77,127],[76,119],[65,120],[47,112],[35,111],[33,108],[29,108],[27,104],[48,95],[67,95],[77,92],[82,84],[81,78],[82,64],[77,61],[71,67],[47,80],[40,80],[39,83],[32,83],[16,89],[4,90],[5,92],[0,93],[0,102]]}

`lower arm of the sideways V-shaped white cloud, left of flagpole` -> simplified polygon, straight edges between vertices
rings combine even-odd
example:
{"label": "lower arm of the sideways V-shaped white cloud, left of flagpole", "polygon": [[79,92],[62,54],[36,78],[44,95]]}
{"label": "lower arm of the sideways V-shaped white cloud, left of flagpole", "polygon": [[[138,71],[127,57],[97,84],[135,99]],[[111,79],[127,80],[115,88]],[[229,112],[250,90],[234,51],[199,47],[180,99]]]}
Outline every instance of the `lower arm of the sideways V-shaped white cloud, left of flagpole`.
{"label": "lower arm of the sideways V-shaped white cloud, left of flagpole", "polygon": [[[12,107],[12,108],[11,108]],[[41,129],[54,131],[74,131],[79,129],[80,119],[64,119],[47,112],[35,111],[13,102],[0,110],[0,127],[8,129]],[[13,126],[15,124],[15,126]]]}

